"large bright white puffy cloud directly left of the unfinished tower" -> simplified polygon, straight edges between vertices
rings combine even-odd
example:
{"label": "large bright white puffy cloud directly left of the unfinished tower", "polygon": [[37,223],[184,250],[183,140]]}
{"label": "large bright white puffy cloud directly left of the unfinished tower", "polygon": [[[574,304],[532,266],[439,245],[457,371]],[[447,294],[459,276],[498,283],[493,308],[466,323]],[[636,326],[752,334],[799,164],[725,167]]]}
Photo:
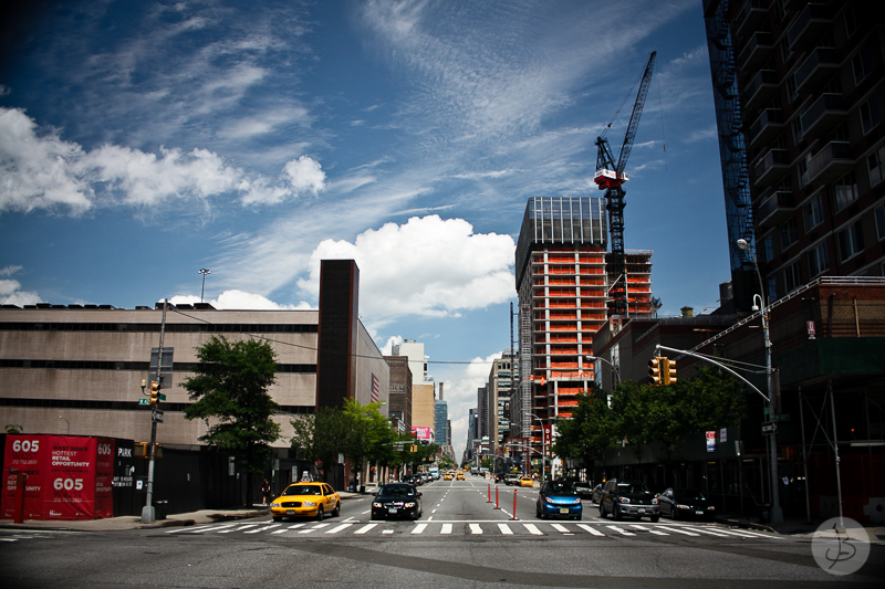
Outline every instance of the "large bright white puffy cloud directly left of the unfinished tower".
{"label": "large bright white puffy cloud directly left of the unfinished tower", "polygon": [[476,234],[462,219],[414,217],[406,224],[367,230],[354,243],[326,240],[311,254],[310,278],[299,286],[320,291],[320,261],[355,260],[360,305],[366,316],[457,316],[514,295],[510,235]]}

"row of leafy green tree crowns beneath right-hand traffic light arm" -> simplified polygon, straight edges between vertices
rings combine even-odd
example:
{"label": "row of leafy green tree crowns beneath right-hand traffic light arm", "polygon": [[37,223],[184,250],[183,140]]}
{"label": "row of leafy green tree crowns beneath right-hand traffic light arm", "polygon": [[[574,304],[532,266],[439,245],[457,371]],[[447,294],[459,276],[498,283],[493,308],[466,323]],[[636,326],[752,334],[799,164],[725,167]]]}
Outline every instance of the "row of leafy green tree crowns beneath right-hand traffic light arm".
{"label": "row of leafy green tree crowns beneath right-hand traffic light arm", "polygon": [[559,423],[554,453],[590,465],[626,441],[636,451],[639,444],[660,442],[669,456],[686,435],[737,425],[746,412],[738,380],[706,367],[695,379],[670,387],[621,382],[610,401],[611,407],[602,391],[581,395],[572,419]]}

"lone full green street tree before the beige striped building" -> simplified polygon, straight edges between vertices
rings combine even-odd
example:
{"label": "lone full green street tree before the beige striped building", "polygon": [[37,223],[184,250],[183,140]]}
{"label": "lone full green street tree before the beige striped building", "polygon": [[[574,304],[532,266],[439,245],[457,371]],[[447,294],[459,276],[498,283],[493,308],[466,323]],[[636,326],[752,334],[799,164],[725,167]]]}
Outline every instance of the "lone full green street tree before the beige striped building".
{"label": "lone full green street tree before the beige striped building", "polygon": [[263,472],[270,444],[280,438],[272,419],[280,406],[268,392],[277,378],[277,355],[266,341],[212,336],[197,348],[197,358],[195,376],[181,382],[196,401],[185,409],[185,418],[206,421],[201,442],[244,460],[251,505],[252,475]]}

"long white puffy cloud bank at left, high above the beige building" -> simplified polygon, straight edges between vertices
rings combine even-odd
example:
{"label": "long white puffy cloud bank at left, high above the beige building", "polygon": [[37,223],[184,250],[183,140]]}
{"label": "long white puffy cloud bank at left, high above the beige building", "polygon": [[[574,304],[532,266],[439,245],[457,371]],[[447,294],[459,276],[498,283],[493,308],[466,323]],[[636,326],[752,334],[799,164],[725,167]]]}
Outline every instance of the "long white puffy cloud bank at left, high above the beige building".
{"label": "long white puffy cloud bank at left, high above the beige building", "polygon": [[325,188],[325,172],[308,156],[277,179],[249,177],[218,154],[160,147],[159,154],[104,145],[92,151],[39,129],[24,111],[0,108],[0,213],[96,206],[154,207],[170,199],[208,201],[241,196],[243,204],[274,204]]}

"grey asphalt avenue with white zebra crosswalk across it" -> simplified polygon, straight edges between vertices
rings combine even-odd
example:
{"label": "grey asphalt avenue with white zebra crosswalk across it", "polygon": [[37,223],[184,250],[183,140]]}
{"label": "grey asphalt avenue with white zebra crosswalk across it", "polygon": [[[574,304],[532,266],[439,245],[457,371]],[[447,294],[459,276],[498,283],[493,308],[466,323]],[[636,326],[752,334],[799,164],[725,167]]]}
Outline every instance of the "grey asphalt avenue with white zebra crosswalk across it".
{"label": "grey asphalt avenue with white zebra crosswalk across it", "polygon": [[322,523],[270,516],[111,533],[3,530],[0,585],[43,587],[600,587],[723,589],[883,586],[885,550],[860,572],[819,567],[811,539],[662,519],[540,520],[537,487],[438,481],[418,522],[372,520],[371,496]]}

